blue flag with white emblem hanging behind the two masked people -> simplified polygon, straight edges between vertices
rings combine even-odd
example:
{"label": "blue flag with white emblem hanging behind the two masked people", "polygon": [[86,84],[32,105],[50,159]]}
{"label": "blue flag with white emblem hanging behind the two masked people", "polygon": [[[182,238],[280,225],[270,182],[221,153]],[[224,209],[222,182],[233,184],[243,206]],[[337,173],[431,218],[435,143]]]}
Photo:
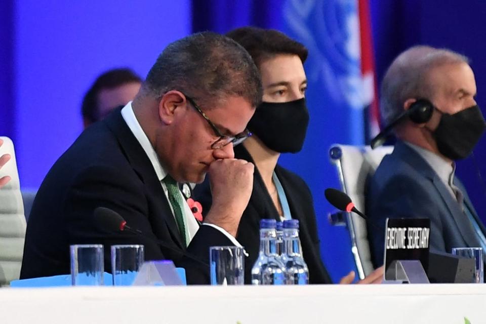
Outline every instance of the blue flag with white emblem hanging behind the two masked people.
{"label": "blue flag with white emblem hanging behind the two masked people", "polygon": [[358,0],[287,0],[282,12],[283,30],[309,50],[304,67],[310,121],[303,150],[295,158],[281,156],[279,163],[302,176],[312,191],[322,257],[336,282],[355,265],[347,230],[326,221],[334,208],[324,190],[340,187],[329,148],[365,144],[363,108],[374,98],[372,69],[361,63]]}

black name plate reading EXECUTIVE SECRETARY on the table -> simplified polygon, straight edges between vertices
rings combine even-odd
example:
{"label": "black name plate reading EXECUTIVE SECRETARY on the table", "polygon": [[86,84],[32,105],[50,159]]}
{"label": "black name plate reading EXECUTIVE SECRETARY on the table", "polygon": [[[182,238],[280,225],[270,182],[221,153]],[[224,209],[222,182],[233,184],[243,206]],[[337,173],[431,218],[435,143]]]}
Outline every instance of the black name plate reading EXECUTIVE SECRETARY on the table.
{"label": "black name plate reading EXECUTIVE SECRETARY on the table", "polygon": [[388,271],[395,260],[419,260],[429,266],[430,219],[387,218],[385,229],[385,279],[393,280]]}

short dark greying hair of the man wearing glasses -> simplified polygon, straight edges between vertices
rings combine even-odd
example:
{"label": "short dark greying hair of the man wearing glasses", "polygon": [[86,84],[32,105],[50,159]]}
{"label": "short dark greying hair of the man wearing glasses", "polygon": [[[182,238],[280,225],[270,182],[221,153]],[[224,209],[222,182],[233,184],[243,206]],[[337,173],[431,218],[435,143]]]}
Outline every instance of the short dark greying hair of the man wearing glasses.
{"label": "short dark greying hair of the man wearing glasses", "polygon": [[201,108],[231,96],[256,107],[263,96],[260,73],[250,54],[232,39],[208,31],[169,44],[142,89],[155,98],[178,90],[197,98]]}

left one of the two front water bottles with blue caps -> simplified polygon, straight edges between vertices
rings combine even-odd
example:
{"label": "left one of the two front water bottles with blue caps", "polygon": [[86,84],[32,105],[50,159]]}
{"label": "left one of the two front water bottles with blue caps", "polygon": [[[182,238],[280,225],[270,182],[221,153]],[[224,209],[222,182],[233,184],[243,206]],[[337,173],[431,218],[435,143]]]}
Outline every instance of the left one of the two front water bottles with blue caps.
{"label": "left one of the two front water bottles with blue caps", "polygon": [[277,254],[274,219],[260,221],[260,253],[252,268],[253,285],[284,285],[285,267]]}

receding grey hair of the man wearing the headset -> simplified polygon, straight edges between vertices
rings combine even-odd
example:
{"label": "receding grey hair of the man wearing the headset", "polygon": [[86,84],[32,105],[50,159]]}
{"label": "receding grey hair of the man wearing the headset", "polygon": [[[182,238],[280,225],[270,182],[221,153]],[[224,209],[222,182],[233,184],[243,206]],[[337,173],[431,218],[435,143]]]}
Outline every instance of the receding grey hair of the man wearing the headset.
{"label": "receding grey hair of the man wearing the headset", "polygon": [[390,124],[403,112],[407,99],[433,96],[435,87],[427,78],[433,68],[458,63],[469,64],[469,59],[454,51],[430,46],[414,46],[398,55],[381,85],[380,110],[385,124]]}

